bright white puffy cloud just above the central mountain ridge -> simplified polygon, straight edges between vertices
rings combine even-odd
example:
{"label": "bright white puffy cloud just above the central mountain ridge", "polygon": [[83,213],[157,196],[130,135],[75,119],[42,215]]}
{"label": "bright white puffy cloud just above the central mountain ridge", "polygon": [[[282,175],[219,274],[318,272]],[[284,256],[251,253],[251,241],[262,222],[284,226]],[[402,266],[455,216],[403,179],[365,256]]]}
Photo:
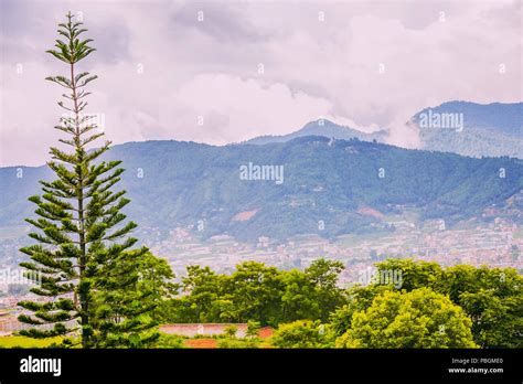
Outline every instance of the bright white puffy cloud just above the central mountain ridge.
{"label": "bright white puffy cloud just above the central mountain ridge", "polygon": [[[330,115],[328,100],[286,84],[226,74],[200,74],[163,98],[160,125],[182,140],[224,145],[281,135]],[[200,117],[200,120],[199,120]]]}

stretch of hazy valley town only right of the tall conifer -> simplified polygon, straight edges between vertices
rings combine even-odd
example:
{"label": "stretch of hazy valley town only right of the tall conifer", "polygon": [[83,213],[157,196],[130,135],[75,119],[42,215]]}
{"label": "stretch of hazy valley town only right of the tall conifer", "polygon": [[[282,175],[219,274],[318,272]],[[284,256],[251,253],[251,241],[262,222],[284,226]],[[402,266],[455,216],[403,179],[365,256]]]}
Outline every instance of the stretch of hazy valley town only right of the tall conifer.
{"label": "stretch of hazy valley town only right of the tall conifer", "polygon": [[383,234],[343,235],[334,241],[318,234],[299,235],[285,244],[260,236],[257,244],[238,243],[227,235],[199,242],[184,228],[171,231],[170,238],[151,246],[166,257],[177,276],[188,265],[210,266],[228,273],[245,260],[256,260],[280,268],[306,268],[312,260],[325,257],[341,260],[345,270],[342,284],[359,282],[360,274],[385,258],[412,257],[441,265],[513,267],[522,269],[523,230],[503,218],[494,223],[461,230],[440,228],[435,221],[423,228],[409,222],[395,222],[395,231]]}

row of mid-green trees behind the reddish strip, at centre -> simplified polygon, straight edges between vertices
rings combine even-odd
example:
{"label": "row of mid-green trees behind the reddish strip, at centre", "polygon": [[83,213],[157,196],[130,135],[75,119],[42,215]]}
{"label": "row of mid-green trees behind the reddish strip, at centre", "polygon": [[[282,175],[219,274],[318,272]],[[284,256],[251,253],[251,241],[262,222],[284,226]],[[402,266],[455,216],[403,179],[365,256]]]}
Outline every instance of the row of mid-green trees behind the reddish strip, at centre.
{"label": "row of mid-green trees behind the reddish strip, at centre", "polygon": [[166,322],[248,322],[277,326],[298,319],[327,320],[346,302],[337,286],[343,266],[318,259],[303,271],[278,270],[246,262],[232,275],[189,266],[182,277],[186,295],[164,305]]}

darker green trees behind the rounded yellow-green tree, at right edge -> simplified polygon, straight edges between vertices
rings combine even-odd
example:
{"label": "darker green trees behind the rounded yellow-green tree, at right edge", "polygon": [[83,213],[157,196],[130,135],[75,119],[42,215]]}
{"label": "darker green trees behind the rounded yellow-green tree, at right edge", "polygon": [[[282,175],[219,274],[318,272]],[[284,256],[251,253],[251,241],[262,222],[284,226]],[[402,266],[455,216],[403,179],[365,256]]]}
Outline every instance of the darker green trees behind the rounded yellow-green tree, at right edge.
{"label": "darker green trees behind the rounded yellow-green tree, at right edge", "polygon": [[388,259],[378,270],[401,270],[407,291],[430,287],[448,295],[472,320],[474,342],[482,348],[521,348],[523,338],[523,277],[513,268],[477,268]]}

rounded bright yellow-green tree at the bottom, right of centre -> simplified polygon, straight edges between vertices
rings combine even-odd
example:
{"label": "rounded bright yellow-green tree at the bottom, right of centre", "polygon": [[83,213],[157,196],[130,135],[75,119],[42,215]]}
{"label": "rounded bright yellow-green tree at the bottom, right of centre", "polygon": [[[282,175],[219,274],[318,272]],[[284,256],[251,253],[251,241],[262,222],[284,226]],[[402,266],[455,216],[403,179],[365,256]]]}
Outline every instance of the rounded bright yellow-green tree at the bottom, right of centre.
{"label": "rounded bright yellow-green tree at the bottom, right of centre", "polygon": [[354,312],[351,328],[338,338],[338,348],[474,348],[472,322],[449,298],[419,288],[387,290],[363,311]]}

